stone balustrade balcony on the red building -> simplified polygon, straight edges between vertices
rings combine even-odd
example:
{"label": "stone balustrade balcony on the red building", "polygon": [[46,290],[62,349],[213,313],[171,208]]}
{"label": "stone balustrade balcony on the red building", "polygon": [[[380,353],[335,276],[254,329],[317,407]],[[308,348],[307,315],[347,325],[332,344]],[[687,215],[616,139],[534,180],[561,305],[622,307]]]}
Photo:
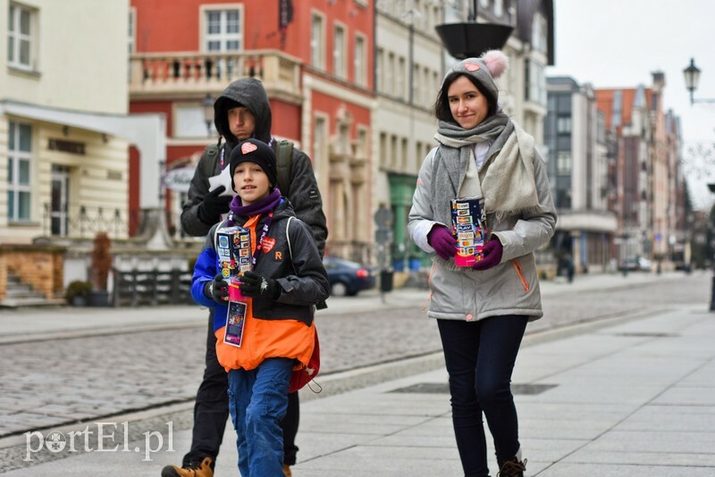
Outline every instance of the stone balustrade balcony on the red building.
{"label": "stone balustrade balcony on the red building", "polygon": [[276,50],[130,54],[130,96],[203,96],[222,91],[235,79],[253,77],[263,82],[269,96],[299,104],[300,67],[299,58]]}

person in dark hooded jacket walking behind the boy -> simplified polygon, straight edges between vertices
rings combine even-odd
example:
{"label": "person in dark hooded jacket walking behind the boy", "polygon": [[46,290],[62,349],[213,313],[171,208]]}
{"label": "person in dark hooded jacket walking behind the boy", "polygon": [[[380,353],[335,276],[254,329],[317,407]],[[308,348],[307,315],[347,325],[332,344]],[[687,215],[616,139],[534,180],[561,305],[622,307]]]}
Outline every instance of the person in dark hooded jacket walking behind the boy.
{"label": "person in dark hooded jacket walking behind the boy", "polygon": [[[297,147],[272,137],[271,104],[261,82],[243,78],[225,88],[214,101],[214,125],[219,133],[218,143],[206,146],[191,179],[189,197],[181,213],[184,232],[193,237],[204,237],[215,223],[221,221],[222,214],[229,212],[231,197],[222,195],[225,191],[223,186],[209,190],[208,178],[228,166],[231,151],[240,141],[257,138],[272,146],[276,152],[280,162],[278,188],[290,200],[296,216],[312,230],[322,256],[328,230],[313,165],[310,158]],[[213,477],[214,464],[229,417],[228,378],[216,359],[215,345],[214,308],[210,308],[206,333],[206,367],[194,406],[191,448],[183,457],[181,467],[165,466],[162,477]],[[291,392],[288,412],[282,422],[284,473],[289,477],[290,465],[296,463],[299,450],[295,444],[298,427],[299,396],[297,392]]]}

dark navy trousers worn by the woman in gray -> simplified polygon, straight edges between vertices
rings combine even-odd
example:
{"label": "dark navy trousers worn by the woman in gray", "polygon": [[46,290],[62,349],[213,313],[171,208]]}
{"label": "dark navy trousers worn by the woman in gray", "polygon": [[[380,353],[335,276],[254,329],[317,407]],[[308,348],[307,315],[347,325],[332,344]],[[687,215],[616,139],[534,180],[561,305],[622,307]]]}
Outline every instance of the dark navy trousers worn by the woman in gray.
{"label": "dark navy trousers worn by the woman in gray", "polygon": [[450,373],[452,425],[467,477],[489,475],[484,422],[498,460],[519,449],[511,372],[526,330],[526,316],[494,316],[478,322],[437,320]]}

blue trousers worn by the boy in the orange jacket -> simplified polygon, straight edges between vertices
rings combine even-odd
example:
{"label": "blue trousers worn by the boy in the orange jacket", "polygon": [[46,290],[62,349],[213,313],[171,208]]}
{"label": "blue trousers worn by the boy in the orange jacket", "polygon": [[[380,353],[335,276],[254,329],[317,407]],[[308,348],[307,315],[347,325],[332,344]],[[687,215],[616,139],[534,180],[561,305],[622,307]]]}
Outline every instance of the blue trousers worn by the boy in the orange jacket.
{"label": "blue trousers worn by the boy in the orange jacket", "polygon": [[229,411],[243,477],[282,477],[281,420],[288,408],[293,360],[266,359],[256,369],[229,372]]}

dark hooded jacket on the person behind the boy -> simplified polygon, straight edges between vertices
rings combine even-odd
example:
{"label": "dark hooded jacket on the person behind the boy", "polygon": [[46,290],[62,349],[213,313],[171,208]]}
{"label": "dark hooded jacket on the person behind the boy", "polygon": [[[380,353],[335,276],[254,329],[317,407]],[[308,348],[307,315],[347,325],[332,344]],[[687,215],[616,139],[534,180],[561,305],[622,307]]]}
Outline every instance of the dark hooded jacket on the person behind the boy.
{"label": "dark hooded jacket on the person behind the boy", "polygon": [[[205,236],[214,225],[214,223],[203,222],[198,217],[198,205],[201,204],[208,192],[208,177],[210,177],[206,176],[204,172],[207,169],[205,163],[214,163],[213,175],[218,174],[223,167],[228,165],[231,150],[239,143],[238,138],[231,134],[229,128],[228,109],[233,102],[248,108],[256,122],[253,137],[273,146],[273,150],[277,154],[277,141],[271,137],[271,104],[268,102],[263,85],[255,78],[233,81],[214,102],[214,124],[224,142],[222,144],[221,138],[219,138],[218,149],[215,146],[207,146],[204,154],[201,155],[189,185],[189,198],[184,203],[181,212],[181,227],[187,234],[194,237]],[[281,188],[281,184],[278,184],[278,188]],[[325,214],[323,213],[323,199],[318,191],[313,164],[308,156],[296,147],[293,147],[290,193],[287,197],[296,216],[306,222],[313,232],[315,243],[322,256],[325,239],[328,237]]]}

